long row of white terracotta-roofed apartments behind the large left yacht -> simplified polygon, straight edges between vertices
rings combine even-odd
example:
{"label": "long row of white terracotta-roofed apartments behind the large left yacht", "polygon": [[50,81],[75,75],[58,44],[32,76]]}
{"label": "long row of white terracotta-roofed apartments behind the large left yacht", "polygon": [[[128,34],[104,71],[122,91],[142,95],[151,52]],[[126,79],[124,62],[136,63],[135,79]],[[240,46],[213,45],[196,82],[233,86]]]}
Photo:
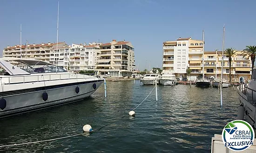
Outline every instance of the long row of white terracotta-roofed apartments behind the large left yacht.
{"label": "long row of white terracotta-roofed apartments behind the large left yacht", "polygon": [[99,45],[102,43],[89,43],[89,45],[72,44],[67,45],[65,42],[58,43],[41,43],[20,45],[13,47],[7,46],[3,50],[3,57],[32,58],[43,60],[51,64],[64,67],[68,70],[88,70],[96,68],[97,55],[99,54]]}

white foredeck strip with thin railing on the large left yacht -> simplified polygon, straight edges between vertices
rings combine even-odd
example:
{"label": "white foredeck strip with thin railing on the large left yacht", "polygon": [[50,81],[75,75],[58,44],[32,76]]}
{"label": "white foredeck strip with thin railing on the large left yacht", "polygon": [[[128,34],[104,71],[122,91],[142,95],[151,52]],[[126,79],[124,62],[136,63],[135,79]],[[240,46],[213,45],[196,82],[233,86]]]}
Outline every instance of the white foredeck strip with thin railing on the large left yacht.
{"label": "white foredeck strip with thin railing on the large left yacht", "polygon": [[[1,76],[2,84],[16,84],[28,82],[41,82],[52,80],[71,80],[71,79],[89,79],[94,78],[95,74],[77,74],[77,73],[55,73],[55,74],[39,74],[39,75],[24,75],[24,76]],[[14,79],[15,78],[15,79]]]}

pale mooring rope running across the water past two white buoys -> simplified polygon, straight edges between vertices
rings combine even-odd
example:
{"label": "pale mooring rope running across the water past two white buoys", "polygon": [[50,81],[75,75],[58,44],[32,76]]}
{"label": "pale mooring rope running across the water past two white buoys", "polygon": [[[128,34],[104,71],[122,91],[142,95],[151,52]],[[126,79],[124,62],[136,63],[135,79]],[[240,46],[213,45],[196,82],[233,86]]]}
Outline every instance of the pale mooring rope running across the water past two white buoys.
{"label": "pale mooring rope running across the water past two white buoys", "polygon": [[[150,91],[150,93],[148,94],[148,96],[153,92],[153,90],[155,89],[155,86],[154,88]],[[140,106],[147,98],[148,96],[138,105]],[[136,106],[133,111],[138,108],[138,106]],[[126,116],[126,115],[125,115]],[[7,146],[20,146],[20,145],[28,145],[28,144],[34,144],[34,143],[40,143],[40,142],[47,142],[47,141],[54,141],[54,140],[60,140],[60,139],[65,139],[65,138],[70,138],[70,137],[75,137],[75,136],[78,136],[78,135],[82,135],[82,134],[85,134],[85,133],[93,133],[95,131],[98,131],[98,130],[101,130],[101,128],[103,127],[106,127],[106,126],[109,126],[111,125],[112,123],[115,123],[117,120],[121,120],[122,118],[124,118],[125,116],[122,116],[120,119],[116,119],[112,122],[110,122],[109,124],[105,125],[105,126],[101,126],[100,128],[98,129],[95,129],[95,130],[92,130],[90,132],[83,132],[83,133],[79,133],[79,134],[74,134],[74,135],[69,135],[69,136],[65,136],[65,137],[60,137],[60,138],[55,138],[55,139],[48,139],[48,140],[40,140],[40,141],[33,141],[33,142],[26,142],[26,143],[15,143],[15,144],[12,144],[12,145],[3,145],[3,146],[0,146],[1,147],[7,147]]]}

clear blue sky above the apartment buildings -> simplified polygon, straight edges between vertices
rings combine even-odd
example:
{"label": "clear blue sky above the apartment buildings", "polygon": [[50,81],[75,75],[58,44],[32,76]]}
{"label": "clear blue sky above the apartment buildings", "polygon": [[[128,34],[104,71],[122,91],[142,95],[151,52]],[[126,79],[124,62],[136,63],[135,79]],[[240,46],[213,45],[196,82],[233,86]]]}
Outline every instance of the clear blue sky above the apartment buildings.
{"label": "clear blue sky above the apartment buildings", "polygon": [[[135,64],[162,67],[162,42],[202,39],[205,51],[242,50],[256,45],[256,0],[60,0],[59,41],[84,43],[127,40]],[[20,44],[56,42],[58,0],[1,0],[0,50]]]}

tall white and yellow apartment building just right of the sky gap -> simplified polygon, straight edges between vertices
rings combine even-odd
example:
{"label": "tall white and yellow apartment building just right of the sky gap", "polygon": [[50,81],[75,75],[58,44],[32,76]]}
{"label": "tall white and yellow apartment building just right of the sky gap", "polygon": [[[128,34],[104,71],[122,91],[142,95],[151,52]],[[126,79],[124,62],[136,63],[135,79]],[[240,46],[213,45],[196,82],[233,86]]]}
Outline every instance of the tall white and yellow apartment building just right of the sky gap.
{"label": "tall white and yellow apartment building just right of the sky gap", "polygon": [[[202,59],[201,40],[192,40],[189,37],[163,42],[163,73],[174,73],[179,78],[185,77],[189,65],[200,64],[200,59]],[[192,71],[197,72],[197,67]]]}

